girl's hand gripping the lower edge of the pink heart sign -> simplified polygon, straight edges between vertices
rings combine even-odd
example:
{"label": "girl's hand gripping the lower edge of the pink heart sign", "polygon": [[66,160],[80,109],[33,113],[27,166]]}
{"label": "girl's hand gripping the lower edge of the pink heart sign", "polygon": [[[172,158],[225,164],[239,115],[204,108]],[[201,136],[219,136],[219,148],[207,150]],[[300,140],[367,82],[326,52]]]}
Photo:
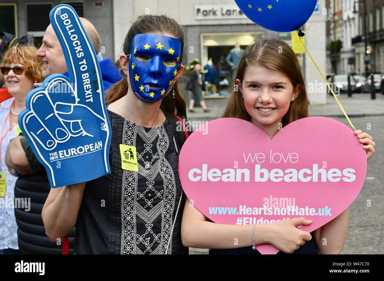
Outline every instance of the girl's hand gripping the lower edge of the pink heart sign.
{"label": "girl's hand gripping the lower edge of the pink heart sign", "polygon": [[311,220],[303,217],[270,223],[268,225],[270,227],[268,243],[280,251],[291,254],[304,245],[305,241],[312,239],[309,232],[296,228],[296,225],[310,225],[311,223]]}

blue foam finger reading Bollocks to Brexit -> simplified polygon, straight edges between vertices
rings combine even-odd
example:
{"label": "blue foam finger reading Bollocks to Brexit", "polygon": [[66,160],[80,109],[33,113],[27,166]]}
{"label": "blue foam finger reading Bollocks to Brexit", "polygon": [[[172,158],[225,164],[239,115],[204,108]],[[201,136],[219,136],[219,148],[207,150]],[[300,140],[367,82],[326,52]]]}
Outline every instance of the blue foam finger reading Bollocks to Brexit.
{"label": "blue foam finger reading Bollocks to Brexit", "polygon": [[111,125],[97,56],[78,15],[61,4],[50,20],[69,78],[53,74],[28,93],[18,121],[55,188],[110,173]]}

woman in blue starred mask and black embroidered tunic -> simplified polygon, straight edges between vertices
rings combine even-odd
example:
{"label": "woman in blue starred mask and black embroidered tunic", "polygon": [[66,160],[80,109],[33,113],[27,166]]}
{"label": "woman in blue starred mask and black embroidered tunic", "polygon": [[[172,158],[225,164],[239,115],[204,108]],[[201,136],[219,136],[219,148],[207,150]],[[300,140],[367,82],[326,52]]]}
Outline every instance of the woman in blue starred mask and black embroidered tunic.
{"label": "woman in blue starred mask and black embroidered tunic", "polygon": [[76,254],[188,253],[181,243],[185,195],[178,173],[188,136],[177,89],[183,47],[182,27],[167,16],[143,15],[132,23],[120,56],[124,78],[106,94],[111,174],[51,190],[43,208],[51,240],[76,226]]}

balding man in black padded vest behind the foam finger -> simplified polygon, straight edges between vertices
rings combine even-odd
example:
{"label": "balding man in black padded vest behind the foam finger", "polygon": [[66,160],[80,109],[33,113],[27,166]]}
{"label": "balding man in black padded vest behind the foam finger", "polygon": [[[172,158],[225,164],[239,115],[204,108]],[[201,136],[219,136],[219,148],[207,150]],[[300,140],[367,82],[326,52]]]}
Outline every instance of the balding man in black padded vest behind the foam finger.
{"label": "balding man in black padded vest behind the foam finger", "polygon": [[[104,91],[106,91],[113,83],[121,80],[122,76],[109,58],[103,60],[100,53],[100,36],[93,24],[86,18],[80,18],[80,20],[96,54],[98,54]],[[36,55],[43,60],[42,75],[44,78],[56,73],[69,76],[60,41],[52,25],[47,27],[43,43]],[[26,254],[73,253],[75,229],[68,233],[69,241],[63,239],[63,247],[61,247],[59,238],[58,242],[60,241],[60,243],[53,243],[45,234],[41,210],[51,187],[44,166],[33,154],[33,150],[23,134],[10,141],[5,162],[10,172],[19,177],[15,185],[15,197],[30,197],[31,206],[35,206],[34,210],[30,212],[15,208],[20,251]]]}

